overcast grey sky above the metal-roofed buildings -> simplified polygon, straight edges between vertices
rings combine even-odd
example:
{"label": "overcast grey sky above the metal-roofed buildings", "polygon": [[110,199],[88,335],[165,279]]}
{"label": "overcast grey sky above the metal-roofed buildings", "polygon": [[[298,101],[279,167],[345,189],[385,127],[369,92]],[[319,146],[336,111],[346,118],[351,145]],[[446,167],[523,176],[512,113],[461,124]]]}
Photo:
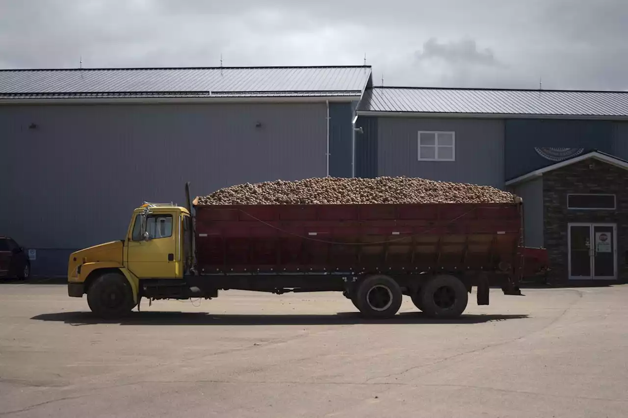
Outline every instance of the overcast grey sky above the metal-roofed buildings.
{"label": "overcast grey sky above the metal-roofed buildings", "polygon": [[628,0],[0,0],[0,68],[361,65],[376,85],[628,90]]}

